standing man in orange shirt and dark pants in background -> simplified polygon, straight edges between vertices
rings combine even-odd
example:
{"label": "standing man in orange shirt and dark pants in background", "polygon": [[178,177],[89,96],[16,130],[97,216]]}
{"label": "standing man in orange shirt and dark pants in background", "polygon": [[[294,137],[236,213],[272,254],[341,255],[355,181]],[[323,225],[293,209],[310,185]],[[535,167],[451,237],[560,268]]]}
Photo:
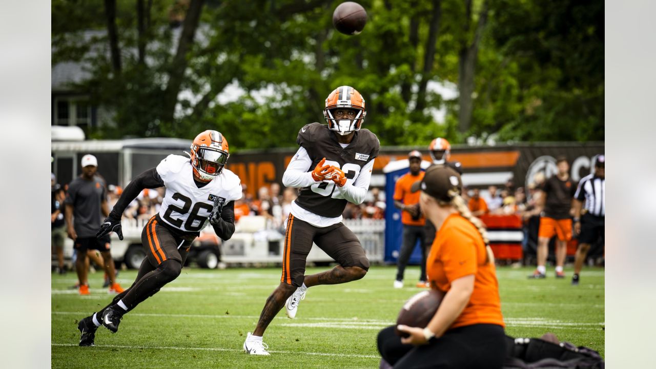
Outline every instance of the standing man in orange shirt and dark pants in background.
{"label": "standing man in orange shirt and dark pants in background", "polygon": [[403,244],[397,261],[396,280],[394,288],[403,288],[403,273],[405,266],[415,250],[415,244],[419,240],[421,248],[421,272],[417,287],[428,287],[426,284],[426,242],[424,234],[424,225],[426,219],[419,210],[419,193],[411,192],[410,187],[413,183],[424,178],[424,172],[421,171],[421,153],[413,150],[408,154],[410,171],[402,175],[396,181],[394,186],[394,206],[401,209],[401,223],[403,223]]}

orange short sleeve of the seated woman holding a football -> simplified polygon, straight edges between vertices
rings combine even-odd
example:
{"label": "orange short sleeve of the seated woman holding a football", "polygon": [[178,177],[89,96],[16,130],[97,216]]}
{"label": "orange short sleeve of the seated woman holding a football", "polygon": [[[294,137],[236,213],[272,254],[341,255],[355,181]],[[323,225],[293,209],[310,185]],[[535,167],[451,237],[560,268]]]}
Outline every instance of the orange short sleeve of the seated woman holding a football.
{"label": "orange short sleeve of the seated woman holding a football", "polygon": [[451,283],[469,274],[476,274],[476,244],[474,240],[460,228],[451,228],[442,238],[441,261],[447,280]]}

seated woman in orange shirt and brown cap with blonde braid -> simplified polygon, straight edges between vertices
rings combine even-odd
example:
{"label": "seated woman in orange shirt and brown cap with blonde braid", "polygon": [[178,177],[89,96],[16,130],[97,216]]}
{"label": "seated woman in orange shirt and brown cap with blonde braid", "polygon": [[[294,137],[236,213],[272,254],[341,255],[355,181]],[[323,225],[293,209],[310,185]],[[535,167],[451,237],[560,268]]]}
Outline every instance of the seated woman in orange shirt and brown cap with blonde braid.
{"label": "seated woman in orange shirt and brown cap with blonde braid", "polygon": [[460,196],[460,175],[430,167],[412,190],[438,229],[426,269],[430,288],[445,295],[426,328],[394,326],[378,335],[384,364],[394,368],[501,368],[506,356],[499,282],[487,231]]}

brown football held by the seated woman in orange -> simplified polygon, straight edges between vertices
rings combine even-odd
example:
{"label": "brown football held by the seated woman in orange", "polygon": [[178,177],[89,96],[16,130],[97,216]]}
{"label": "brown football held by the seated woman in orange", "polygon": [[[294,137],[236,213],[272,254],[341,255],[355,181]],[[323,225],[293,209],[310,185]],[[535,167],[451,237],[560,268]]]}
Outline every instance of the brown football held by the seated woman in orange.
{"label": "brown football held by the seated woman in orange", "polygon": [[[440,290],[426,290],[410,297],[396,318],[396,325],[404,324],[409,327],[426,328],[428,322],[435,316],[444,298],[444,292]],[[401,337],[409,334],[401,332],[394,327],[394,332]]]}

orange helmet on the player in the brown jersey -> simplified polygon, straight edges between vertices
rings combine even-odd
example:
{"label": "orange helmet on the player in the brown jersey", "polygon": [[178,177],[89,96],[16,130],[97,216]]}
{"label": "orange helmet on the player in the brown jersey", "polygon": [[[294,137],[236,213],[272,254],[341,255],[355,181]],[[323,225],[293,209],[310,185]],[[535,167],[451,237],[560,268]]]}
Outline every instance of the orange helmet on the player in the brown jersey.
{"label": "orange helmet on the player in the brown jersey", "polygon": [[[335,110],[339,108],[356,109],[356,116],[353,119],[335,119]],[[365,99],[353,87],[337,87],[326,98],[326,107],[323,109],[323,116],[328,122],[328,128],[342,136],[359,131],[362,123],[365,121],[365,116],[367,116]]]}

